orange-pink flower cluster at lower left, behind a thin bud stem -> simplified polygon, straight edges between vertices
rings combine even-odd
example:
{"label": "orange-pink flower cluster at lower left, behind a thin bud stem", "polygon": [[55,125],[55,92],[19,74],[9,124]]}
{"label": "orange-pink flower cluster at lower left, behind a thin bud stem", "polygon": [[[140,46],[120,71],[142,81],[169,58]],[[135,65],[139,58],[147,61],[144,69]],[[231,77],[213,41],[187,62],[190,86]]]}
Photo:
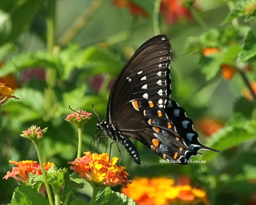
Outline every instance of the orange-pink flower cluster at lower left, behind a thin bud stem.
{"label": "orange-pink flower cluster at lower left, behind a thin bud stem", "polygon": [[[42,169],[40,167],[40,164],[36,161],[23,160],[20,162],[15,162],[10,160],[9,162],[13,165],[16,165],[17,167],[13,167],[12,172],[8,171],[3,179],[7,180],[8,178],[12,177],[18,181],[28,181],[29,173],[33,173],[35,175],[42,175]],[[48,171],[52,165],[54,165],[54,163],[44,163],[45,171]]]}

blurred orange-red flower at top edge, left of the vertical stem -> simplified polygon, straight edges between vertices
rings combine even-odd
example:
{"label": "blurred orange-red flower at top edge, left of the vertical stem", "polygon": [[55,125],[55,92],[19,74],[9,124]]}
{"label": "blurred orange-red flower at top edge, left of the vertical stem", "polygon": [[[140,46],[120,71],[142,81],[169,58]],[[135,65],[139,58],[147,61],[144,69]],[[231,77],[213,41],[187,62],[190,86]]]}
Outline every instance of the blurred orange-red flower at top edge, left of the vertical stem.
{"label": "blurred orange-red flower at top edge, left of the vertical stem", "polygon": [[130,13],[134,16],[143,15],[143,17],[148,17],[147,11],[138,6],[137,4],[132,3],[129,0],[113,0],[113,4],[119,8],[127,7],[130,10]]}

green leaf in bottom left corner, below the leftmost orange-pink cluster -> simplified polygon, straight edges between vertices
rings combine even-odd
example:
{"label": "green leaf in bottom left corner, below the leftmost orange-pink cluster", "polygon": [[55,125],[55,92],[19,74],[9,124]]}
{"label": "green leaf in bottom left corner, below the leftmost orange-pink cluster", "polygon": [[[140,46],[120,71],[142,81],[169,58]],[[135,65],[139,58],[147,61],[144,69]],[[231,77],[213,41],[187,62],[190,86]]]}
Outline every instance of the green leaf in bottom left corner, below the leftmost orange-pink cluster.
{"label": "green leaf in bottom left corner, below the leftmost orange-pink cluster", "polygon": [[12,205],[49,205],[49,201],[31,186],[18,186],[12,196]]}

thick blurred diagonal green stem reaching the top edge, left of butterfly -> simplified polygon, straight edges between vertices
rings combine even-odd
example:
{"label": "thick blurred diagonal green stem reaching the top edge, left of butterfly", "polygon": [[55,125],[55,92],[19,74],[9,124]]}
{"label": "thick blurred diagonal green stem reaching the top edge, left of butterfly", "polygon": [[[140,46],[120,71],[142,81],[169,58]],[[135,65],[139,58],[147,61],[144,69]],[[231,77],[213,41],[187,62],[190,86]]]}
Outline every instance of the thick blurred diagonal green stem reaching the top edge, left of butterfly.
{"label": "thick blurred diagonal green stem reaching the top edge, left of butterfly", "polygon": [[61,36],[59,45],[64,47],[70,42],[78,33],[83,29],[83,27],[92,19],[95,12],[100,8],[100,5],[104,0],[93,0],[92,4],[84,11],[81,17],[78,17],[74,24]]}

